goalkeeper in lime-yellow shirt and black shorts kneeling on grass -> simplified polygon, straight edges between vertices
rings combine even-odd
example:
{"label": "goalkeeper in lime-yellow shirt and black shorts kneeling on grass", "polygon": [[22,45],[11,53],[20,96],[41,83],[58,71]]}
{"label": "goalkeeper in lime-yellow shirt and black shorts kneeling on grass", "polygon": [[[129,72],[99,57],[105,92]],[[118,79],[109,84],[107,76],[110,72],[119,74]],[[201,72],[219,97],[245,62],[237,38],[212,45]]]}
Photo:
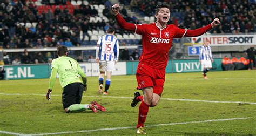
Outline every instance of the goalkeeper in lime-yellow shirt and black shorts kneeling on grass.
{"label": "goalkeeper in lime-yellow shirt and black shorts kneeling on grass", "polygon": [[[46,99],[51,100],[52,88],[55,84],[56,74],[58,73],[59,82],[63,89],[62,103],[66,113],[84,110],[92,110],[93,112],[98,112],[99,110],[105,112],[106,109],[96,101],[92,101],[90,104],[80,104],[83,91],[87,90],[87,79],[84,71],[75,59],[67,57],[67,47],[58,46],[57,55],[59,57],[53,59],[51,63],[51,77]],[[78,74],[82,77],[83,83],[78,77]]]}

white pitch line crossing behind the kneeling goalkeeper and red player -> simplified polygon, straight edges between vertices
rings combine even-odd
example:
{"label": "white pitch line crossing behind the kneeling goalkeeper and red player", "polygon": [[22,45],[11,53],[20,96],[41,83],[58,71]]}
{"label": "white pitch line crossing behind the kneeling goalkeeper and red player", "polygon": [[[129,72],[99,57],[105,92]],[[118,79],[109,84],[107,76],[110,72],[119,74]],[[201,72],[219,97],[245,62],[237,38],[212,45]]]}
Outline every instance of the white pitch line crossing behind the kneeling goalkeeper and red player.
{"label": "white pitch line crossing behind the kneeling goalkeeper and red player", "polygon": [[[0,93],[3,96],[45,96],[45,94],[22,94],[22,93]],[[62,96],[60,94],[53,94],[51,96]],[[115,97],[115,96],[83,96],[83,97],[92,97],[92,98],[118,98],[118,99],[132,99],[133,97]],[[246,101],[215,101],[215,100],[194,100],[194,99],[172,99],[172,98],[161,98],[161,100],[179,100],[179,101],[196,101],[196,102],[205,102],[205,103],[233,103],[233,104],[256,104],[254,102]]]}

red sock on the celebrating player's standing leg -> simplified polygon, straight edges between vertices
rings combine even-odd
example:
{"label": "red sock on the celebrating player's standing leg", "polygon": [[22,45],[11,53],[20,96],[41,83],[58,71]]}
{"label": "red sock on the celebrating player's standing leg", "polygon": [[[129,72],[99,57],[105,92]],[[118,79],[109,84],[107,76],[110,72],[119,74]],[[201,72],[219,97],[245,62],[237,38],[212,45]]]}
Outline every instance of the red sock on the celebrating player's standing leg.
{"label": "red sock on the celebrating player's standing leg", "polygon": [[[143,96],[141,96],[143,99]],[[137,99],[139,99],[137,97]],[[144,103],[144,101],[142,100],[142,103],[139,105],[139,117],[138,117],[138,124],[137,124],[137,128],[139,127],[144,127],[144,122],[146,121],[146,117],[147,117],[147,112],[149,112],[149,107],[150,105]]]}

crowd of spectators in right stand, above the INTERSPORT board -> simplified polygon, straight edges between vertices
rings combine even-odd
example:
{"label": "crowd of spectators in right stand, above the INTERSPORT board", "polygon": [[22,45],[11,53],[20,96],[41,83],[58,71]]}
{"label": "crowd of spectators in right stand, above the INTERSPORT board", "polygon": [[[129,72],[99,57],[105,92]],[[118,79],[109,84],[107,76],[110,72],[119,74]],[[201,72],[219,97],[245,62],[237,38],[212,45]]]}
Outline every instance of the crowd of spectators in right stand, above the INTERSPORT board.
{"label": "crowd of spectators in right stand, above the INTERSPORT board", "polygon": [[169,24],[179,28],[197,29],[220,19],[221,25],[213,33],[256,32],[256,8],[254,0],[126,0],[131,10],[142,16],[154,16],[154,8],[159,2],[169,3],[171,19]]}

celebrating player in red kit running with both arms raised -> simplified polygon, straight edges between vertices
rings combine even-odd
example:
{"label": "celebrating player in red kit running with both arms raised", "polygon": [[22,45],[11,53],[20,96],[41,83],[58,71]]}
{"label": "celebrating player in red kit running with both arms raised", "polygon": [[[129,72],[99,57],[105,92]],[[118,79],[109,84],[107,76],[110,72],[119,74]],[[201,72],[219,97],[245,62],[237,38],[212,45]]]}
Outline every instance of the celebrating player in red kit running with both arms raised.
{"label": "celebrating player in red kit running with both arms raised", "polygon": [[137,89],[143,91],[143,96],[140,96],[139,92],[135,92],[131,106],[134,107],[139,101],[142,101],[139,106],[136,133],[146,134],[144,122],[147,112],[149,112],[149,107],[154,107],[158,104],[163,92],[165,67],[168,62],[168,53],[172,46],[173,38],[203,35],[219,25],[220,22],[218,18],[215,18],[211,24],[196,30],[180,29],[174,25],[167,25],[170,18],[170,9],[166,3],[156,6],[155,17],[157,21],[151,24],[127,23],[119,14],[119,4],[114,4],[112,10],[117,23],[123,29],[142,35],[143,52],[139,59],[136,78],[138,82]]}

